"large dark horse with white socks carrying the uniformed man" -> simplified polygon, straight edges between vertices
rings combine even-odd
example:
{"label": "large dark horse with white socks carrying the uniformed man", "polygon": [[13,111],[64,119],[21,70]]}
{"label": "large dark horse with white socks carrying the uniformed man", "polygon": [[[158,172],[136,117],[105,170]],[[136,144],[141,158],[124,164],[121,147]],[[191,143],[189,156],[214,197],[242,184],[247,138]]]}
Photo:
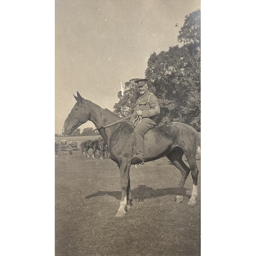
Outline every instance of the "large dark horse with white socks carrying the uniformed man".
{"label": "large dark horse with white socks carrying the uniformed man", "polygon": [[[132,206],[133,200],[130,184],[131,160],[136,155],[133,123],[120,120],[110,110],[102,109],[90,100],[83,99],[78,92],[74,97],[77,102],[65,120],[63,132],[70,135],[88,120],[97,127],[108,145],[110,158],[118,164],[120,169],[122,195],[116,217],[123,217],[126,210]],[[120,123],[116,123],[118,120]],[[170,122],[155,127],[144,136],[145,162],[166,156],[182,174],[176,202],[183,201],[183,186],[191,170],[193,190],[188,201],[190,205],[196,204],[197,197],[199,173],[196,162],[197,136],[197,131],[193,127],[180,122]],[[190,168],[183,162],[183,154],[185,154]]]}

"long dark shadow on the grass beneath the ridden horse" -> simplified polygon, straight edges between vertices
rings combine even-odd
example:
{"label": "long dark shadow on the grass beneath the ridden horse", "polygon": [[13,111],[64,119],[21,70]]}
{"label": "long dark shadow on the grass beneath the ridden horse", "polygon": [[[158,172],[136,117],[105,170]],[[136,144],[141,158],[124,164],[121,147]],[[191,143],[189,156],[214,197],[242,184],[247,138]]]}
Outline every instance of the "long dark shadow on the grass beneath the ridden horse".
{"label": "long dark shadow on the grass beneath the ridden horse", "polygon": [[[168,195],[178,195],[177,191],[179,188],[168,187],[168,188],[157,188],[153,189],[152,187],[147,187],[146,185],[139,185],[138,187],[132,189],[133,199],[138,200],[139,202],[144,201],[149,198],[157,198]],[[111,196],[115,197],[117,200],[121,200],[121,191],[98,191],[92,195],[86,196],[86,199],[100,196]],[[183,196],[189,197],[187,194],[187,188],[183,188]]]}

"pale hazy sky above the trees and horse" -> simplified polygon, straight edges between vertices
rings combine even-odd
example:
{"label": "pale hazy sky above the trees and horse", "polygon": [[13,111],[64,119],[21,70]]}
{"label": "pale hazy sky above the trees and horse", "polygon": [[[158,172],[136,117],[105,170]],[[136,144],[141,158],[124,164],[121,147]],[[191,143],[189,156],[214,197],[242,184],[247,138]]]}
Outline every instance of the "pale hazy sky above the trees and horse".
{"label": "pale hazy sky above the trees and horse", "polygon": [[56,0],[55,133],[77,91],[113,110],[120,81],[143,78],[148,57],[177,45],[185,15],[197,9],[200,0]]}

